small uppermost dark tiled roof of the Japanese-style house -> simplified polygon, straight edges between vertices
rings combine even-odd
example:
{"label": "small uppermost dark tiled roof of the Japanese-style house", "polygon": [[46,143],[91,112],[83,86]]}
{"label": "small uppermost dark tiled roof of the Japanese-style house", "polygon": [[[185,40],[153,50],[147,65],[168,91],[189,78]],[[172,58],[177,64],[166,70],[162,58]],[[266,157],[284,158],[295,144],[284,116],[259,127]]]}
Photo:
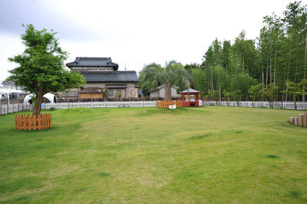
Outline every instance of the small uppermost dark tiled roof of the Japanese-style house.
{"label": "small uppermost dark tiled roof of the Japanese-style house", "polygon": [[113,67],[118,69],[118,64],[112,62],[111,57],[76,57],[74,62],[66,64],[67,67]]}

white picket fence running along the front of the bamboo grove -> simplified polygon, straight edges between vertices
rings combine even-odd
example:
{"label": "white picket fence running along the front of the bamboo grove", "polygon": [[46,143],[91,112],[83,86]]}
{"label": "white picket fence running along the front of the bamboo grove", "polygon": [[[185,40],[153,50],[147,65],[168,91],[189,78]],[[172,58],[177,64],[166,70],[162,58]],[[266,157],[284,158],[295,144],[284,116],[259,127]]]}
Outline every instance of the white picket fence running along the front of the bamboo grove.
{"label": "white picket fence running along the front of the bamboo grove", "polygon": [[[215,105],[215,106],[228,106],[227,101],[204,101],[204,105]],[[294,109],[294,102],[253,102],[253,101],[230,101],[230,107],[257,107],[257,108],[275,108],[275,109]],[[298,110],[307,110],[307,102],[296,102],[296,109]]]}

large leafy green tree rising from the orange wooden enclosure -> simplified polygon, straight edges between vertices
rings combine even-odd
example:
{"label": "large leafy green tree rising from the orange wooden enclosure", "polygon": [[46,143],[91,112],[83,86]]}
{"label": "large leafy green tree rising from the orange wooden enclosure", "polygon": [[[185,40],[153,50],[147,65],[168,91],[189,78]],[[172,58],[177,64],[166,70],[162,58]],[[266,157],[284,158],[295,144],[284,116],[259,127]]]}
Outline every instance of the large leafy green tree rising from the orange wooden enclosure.
{"label": "large leafy green tree rising from the orange wooden enclosure", "polygon": [[25,27],[25,34],[21,34],[25,50],[8,58],[19,67],[13,69],[6,80],[14,81],[16,86],[34,93],[34,114],[39,116],[44,94],[82,86],[85,79],[79,72],[65,68],[64,60],[68,53],[59,47],[56,32],[36,30],[32,24],[22,27]]}

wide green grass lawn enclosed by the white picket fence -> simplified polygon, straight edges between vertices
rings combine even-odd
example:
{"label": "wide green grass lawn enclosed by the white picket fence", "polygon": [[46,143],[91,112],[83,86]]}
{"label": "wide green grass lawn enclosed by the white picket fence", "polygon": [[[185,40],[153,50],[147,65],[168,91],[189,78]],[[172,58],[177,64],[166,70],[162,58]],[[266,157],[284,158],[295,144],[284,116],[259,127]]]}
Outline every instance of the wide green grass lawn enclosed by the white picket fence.
{"label": "wide green grass lawn enclosed by the white picket fence", "polygon": [[[25,113],[25,112],[23,112]],[[0,203],[306,203],[303,111],[60,109],[0,116]]]}

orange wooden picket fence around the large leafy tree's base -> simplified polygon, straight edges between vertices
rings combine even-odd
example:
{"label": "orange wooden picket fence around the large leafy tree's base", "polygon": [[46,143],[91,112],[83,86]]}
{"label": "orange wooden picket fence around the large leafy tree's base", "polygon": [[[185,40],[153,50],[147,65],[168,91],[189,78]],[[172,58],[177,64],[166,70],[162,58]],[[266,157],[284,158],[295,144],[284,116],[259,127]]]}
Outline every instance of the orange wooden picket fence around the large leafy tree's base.
{"label": "orange wooden picket fence around the large leafy tree's base", "polygon": [[52,127],[51,114],[15,115],[15,130],[44,130]]}

